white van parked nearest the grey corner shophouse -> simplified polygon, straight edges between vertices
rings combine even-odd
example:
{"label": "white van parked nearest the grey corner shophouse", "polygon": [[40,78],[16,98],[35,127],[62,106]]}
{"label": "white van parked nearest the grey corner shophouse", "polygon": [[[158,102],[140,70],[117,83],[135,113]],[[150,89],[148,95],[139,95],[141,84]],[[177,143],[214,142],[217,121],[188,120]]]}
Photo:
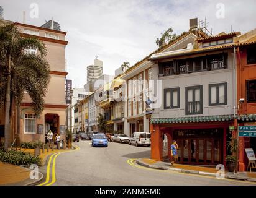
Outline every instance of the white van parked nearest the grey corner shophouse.
{"label": "white van parked nearest the grey corner shophouse", "polygon": [[149,132],[134,132],[130,137],[129,144],[135,144],[136,147],[139,145],[147,145],[148,147],[151,144],[151,134]]}

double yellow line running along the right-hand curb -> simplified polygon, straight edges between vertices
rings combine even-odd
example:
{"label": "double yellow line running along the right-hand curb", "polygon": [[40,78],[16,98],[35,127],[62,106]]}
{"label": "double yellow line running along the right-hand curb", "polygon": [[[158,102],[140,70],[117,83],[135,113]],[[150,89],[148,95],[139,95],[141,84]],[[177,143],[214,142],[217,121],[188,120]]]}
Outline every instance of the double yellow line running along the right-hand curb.
{"label": "double yellow line running along the right-hand curb", "polygon": [[[150,170],[150,171],[161,171],[161,172],[167,172],[167,173],[175,173],[175,174],[181,174],[180,172],[176,172],[176,171],[172,171],[172,170],[159,170],[159,169],[156,169],[156,168],[147,168],[145,166],[140,166],[140,165],[135,165],[134,164],[134,161],[136,159],[129,159],[127,160],[127,163],[131,166],[134,166],[136,168],[142,168],[142,169],[145,169],[145,170]],[[209,176],[203,176],[203,175],[199,175],[199,174],[190,174],[190,173],[182,173],[182,174],[186,174],[186,175],[190,175],[190,176],[197,176],[197,177],[200,177],[200,178],[212,178],[212,179],[217,179],[217,178],[214,178],[214,177],[209,177]],[[221,179],[217,179],[217,180],[221,180]],[[256,184],[255,182],[252,182],[252,181],[239,181],[237,179],[223,179],[223,180],[227,180],[227,181],[233,181],[233,182],[237,182],[237,183],[245,183],[245,184]]]}

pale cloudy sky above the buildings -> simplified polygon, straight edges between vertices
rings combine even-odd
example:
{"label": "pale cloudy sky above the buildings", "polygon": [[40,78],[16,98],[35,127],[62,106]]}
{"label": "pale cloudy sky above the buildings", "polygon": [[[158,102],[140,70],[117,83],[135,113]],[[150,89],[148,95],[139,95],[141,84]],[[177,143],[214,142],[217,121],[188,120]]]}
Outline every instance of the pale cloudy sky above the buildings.
{"label": "pale cloudy sky above the buildings", "polygon": [[[33,5],[38,15],[30,17]],[[157,49],[155,40],[173,28],[180,34],[189,29],[189,19],[206,19],[208,30],[245,33],[256,28],[255,0],[0,0],[4,19],[41,26],[57,21],[67,32],[67,79],[73,87],[86,84],[86,66],[95,56],[103,61],[103,73],[114,75],[122,62],[130,66]],[[32,6],[32,8],[30,8]]]}

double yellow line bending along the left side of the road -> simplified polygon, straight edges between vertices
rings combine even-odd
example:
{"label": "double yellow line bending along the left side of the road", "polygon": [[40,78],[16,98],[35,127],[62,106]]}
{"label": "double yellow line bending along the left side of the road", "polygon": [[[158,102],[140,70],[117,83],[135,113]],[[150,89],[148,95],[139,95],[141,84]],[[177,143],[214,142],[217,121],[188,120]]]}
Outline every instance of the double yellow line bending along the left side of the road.
{"label": "double yellow line bending along the left side of the road", "polygon": [[[47,175],[46,175],[46,179],[44,183],[39,184],[38,186],[51,186],[52,184],[55,183],[56,181],[56,176],[55,176],[55,163],[56,163],[56,158],[58,157],[58,155],[62,154],[62,153],[68,153],[68,152],[73,152],[76,150],[80,150],[80,147],[74,145],[75,150],[68,150],[65,152],[58,152],[58,153],[54,153],[51,155],[48,164],[47,164]],[[53,158],[53,163],[52,163],[52,158]],[[50,181],[50,168],[51,168],[51,163],[52,163],[52,181]]]}

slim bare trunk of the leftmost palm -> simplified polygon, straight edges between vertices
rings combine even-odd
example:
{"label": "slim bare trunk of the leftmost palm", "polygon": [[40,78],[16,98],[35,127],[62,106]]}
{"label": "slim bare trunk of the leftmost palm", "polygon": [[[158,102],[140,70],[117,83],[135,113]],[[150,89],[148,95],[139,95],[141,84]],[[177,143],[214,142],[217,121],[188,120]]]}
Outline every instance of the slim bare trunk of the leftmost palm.
{"label": "slim bare trunk of the leftmost palm", "polygon": [[7,152],[10,140],[10,92],[11,92],[11,74],[7,77],[6,106],[4,119],[4,150]]}

